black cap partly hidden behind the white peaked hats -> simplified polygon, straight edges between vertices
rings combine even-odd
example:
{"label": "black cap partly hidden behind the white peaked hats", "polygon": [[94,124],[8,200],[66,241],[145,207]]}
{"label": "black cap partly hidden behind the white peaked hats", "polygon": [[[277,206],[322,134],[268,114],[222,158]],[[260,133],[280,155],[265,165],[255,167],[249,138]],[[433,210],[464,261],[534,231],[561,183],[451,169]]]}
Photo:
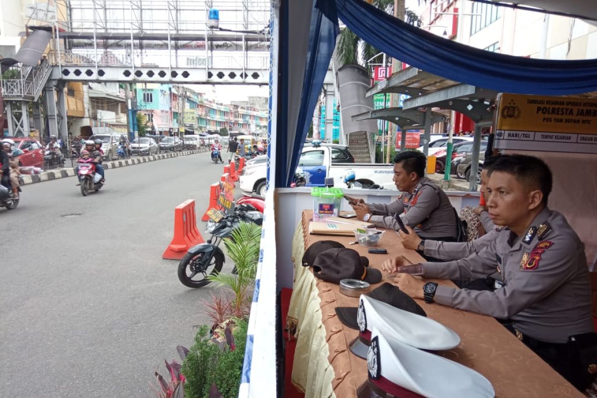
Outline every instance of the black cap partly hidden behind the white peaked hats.
{"label": "black cap partly hidden behind the white peaked hats", "polygon": [[[368,297],[383,301],[392,307],[400,308],[420,316],[427,316],[423,308],[419,306],[408,294],[401,291],[398,286],[392,283],[384,283],[376,289],[369,292]],[[336,307],[336,314],[340,322],[351,329],[359,329],[356,322],[357,307]]]}

